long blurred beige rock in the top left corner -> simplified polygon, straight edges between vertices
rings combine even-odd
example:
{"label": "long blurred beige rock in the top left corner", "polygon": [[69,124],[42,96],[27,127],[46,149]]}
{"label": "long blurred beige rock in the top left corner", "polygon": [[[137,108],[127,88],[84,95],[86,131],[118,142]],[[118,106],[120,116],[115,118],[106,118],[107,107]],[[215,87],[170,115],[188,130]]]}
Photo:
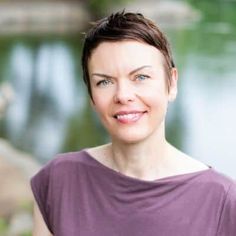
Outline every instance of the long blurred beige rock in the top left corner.
{"label": "long blurred beige rock in the top left corner", "polygon": [[90,16],[79,1],[0,2],[0,34],[79,32]]}

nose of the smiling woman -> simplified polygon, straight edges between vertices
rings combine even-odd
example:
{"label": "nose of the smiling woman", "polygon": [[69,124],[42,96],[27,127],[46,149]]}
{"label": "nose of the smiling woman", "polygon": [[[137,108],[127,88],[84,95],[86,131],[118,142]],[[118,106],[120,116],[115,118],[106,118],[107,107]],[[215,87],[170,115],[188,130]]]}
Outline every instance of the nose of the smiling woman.
{"label": "nose of the smiling woman", "polygon": [[127,83],[122,83],[117,86],[114,94],[114,102],[120,104],[127,104],[134,101],[135,91]]}

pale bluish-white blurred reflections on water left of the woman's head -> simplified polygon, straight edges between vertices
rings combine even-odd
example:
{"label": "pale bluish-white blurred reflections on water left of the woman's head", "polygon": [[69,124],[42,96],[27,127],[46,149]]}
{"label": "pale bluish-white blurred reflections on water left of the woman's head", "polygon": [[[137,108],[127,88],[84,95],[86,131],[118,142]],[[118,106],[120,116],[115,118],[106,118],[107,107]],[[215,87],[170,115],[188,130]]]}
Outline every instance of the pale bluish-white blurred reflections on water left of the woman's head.
{"label": "pale bluish-white blurred reflections on water left of the woman's head", "polygon": [[63,145],[69,117],[86,104],[85,92],[76,84],[72,54],[63,43],[42,43],[34,50],[18,43],[9,58],[16,96],[7,113],[7,136],[48,158]]}

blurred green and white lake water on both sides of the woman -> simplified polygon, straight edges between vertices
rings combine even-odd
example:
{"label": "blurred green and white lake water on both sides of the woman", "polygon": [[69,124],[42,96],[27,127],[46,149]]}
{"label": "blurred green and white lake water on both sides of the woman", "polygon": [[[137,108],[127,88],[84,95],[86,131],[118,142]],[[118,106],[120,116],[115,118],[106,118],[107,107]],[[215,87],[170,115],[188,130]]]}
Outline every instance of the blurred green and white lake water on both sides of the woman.
{"label": "blurred green and white lake water on both sides of the woman", "polygon": [[[167,138],[236,178],[236,2],[195,4],[200,22],[163,27],[179,69]],[[109,140],[90,109],[80,54],[78,35],[0,37],[0,82],[15,93],[0,121],[1,137],[41,162]]]}

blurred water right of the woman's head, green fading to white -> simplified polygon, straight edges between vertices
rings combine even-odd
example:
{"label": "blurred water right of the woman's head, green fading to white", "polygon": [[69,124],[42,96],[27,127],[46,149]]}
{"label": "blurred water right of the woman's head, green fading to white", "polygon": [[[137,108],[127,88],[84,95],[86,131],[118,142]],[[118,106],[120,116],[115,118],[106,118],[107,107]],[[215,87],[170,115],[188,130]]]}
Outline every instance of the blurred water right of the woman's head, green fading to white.
{"label": "blurred water right of the woman's head, green fading to white", "polygon": [[235,23],[210,22],[181,35],[170,32],[180,62],[182,149],[234,178]]}

